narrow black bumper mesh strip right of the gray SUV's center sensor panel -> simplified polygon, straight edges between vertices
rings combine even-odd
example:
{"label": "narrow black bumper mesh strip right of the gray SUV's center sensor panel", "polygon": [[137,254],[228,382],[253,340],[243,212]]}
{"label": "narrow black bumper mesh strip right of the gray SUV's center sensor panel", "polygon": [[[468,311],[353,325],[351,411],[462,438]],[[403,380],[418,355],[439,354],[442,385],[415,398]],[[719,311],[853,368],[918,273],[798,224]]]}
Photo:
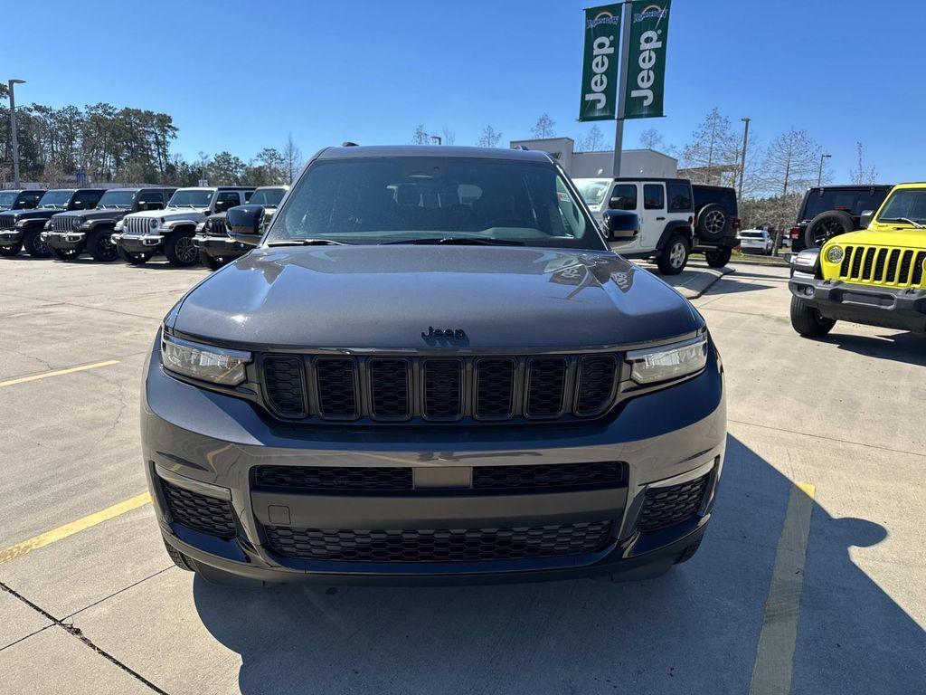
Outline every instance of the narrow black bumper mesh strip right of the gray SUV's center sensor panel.
{"label": "narrow black bumper mesh strip right of the gray SUV's center sensor panel", "polygon": [[617,461],[557,463],[523,466],[476,466],[475,490],[544,490],[563,487],[616,487],[624,482],[624,466]]}

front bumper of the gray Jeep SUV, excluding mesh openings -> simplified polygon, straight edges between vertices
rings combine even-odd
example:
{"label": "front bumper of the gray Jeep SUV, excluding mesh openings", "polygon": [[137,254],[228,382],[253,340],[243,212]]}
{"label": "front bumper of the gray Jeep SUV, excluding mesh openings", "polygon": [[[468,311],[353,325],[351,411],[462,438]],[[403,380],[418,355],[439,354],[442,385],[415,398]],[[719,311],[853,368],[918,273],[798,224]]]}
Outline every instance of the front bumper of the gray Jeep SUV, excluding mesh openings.
{"label": "front bumper of the gray Jeep SUV, excluding mesh openings", "polygon": [[[157,343],[145,373],[144,464],[161,533],[206,575],[219,571],[267,582],[455,584],[660,574],[704,533],[726,443],[722,368],[713,352],[704,373],[626,401],[610,422],[579,426],[299,426],[275,421],[248,401],[170,377],[161,367]],[[480,466],[600,461],[621,462],[625,474],[619,485],[482,494],[465,483],[441,483],[445,476],[471,480]],[[388,493],[270,489],[257,485],[258,466],[407,468],[415,487]],[[650,497],[692,481],[701,481],[703,493],[690,515],[641,531]],[[191,499],[202,495],[229,505],[233,537],[179,523],[165,492],[177,488],[193,493]],[[286,553],[271,538],[272,529],[281,527],[369,535],[387,529],[519,532],[595,521],[607,522],[610,530],[591,550],[463,562],[307,558]]]}

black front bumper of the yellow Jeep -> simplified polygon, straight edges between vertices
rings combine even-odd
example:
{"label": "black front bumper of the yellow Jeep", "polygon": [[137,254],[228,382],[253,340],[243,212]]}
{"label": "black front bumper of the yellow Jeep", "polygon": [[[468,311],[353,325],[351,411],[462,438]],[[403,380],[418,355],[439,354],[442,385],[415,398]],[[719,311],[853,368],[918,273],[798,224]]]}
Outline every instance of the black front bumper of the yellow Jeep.
{"label": "black front bumper of the yellow Jeep", "polygon": [[788,289],[828,319],[926,333],[926,289],[821,280],[796,270]]}

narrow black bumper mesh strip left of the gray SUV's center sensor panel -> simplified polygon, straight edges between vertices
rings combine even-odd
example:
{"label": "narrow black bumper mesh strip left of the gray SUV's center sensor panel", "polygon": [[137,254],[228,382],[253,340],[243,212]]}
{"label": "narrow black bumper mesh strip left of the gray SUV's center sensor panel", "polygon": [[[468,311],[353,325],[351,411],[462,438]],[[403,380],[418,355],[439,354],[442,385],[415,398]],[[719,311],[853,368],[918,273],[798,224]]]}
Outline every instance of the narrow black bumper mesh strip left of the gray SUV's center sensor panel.
{"label": "narrow black bumper mesh strip left of the gray SUV's center sensor panel", "polygon": [[257,466],[258,487],[284,490],[410,490],[410,468]]}

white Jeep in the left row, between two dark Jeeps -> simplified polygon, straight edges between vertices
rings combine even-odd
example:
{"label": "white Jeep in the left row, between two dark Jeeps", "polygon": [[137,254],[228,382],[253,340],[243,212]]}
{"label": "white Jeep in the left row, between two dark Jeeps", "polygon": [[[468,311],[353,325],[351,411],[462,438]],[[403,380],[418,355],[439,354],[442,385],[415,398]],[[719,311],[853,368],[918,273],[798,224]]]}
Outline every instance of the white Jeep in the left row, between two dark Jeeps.
{"label": "white Jeep in the left row, between two dark Jeeps", "polygon": [[163,210],[145,210],[126,215],[116,225],[112,240],[119,258],[141,265],[163,252],[171,265],[191,266],[199,262],[193,243],[196,225],[217,212],[244,205],[254,186],[178,188]]}

